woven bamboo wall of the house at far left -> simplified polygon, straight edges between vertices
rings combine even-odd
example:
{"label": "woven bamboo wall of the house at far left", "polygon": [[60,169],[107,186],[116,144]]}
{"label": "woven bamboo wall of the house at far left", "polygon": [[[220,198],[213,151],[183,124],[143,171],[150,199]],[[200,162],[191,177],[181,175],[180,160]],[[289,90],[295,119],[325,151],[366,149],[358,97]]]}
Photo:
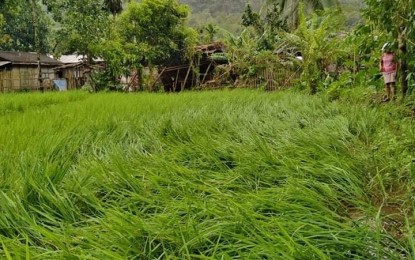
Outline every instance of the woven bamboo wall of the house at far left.
{"label": "woven bamboo wall of the house at far left", "polygon": [[52,88],[52,80],[55,78],[53,68],[43,67],[40,86],[38,80],[38,70],[36,66],[13,66],[0,69],[0,91],[32,91],[46,90]]}

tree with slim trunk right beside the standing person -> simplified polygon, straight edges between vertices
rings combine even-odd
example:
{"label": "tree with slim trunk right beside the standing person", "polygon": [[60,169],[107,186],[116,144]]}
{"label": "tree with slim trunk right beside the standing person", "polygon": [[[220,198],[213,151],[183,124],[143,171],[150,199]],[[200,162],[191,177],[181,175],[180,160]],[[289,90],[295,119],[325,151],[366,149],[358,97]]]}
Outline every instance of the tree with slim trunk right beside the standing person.
{"label": "tree with slim trunk right beside the standing person", "polygon": [[388,34],[398,47],[400,85],[402,95],[408,92],[408,50],[414,49],[415,40],[415,0],[365,0],[367,8],[364,16],[378,30]]}

